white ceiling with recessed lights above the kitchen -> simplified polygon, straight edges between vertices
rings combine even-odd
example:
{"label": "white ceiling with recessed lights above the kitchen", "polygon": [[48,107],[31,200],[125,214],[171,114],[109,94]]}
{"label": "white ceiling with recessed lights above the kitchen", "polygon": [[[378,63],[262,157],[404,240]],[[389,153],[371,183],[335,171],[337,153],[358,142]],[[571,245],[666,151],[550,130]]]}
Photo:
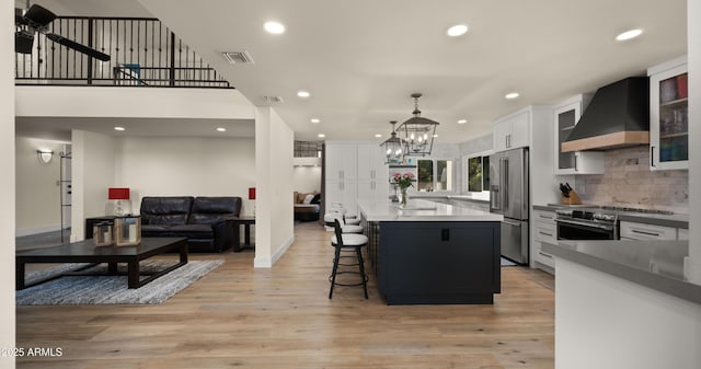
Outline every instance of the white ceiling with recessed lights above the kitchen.
{"label": "white ceiling with recessed lights above the kitchen", "polygon": [[[440,123],[437,142],[460,142],[522,106],[644,74],[687,49],[686,0],[138,1],[37,2],[61,15],[159,18],[254,104],[281,96],[275,109],[303,140],[383,140],[422,92],[423,116]],[[265,33],[268,20],[287,32]],[[470,31],[448,38],[458,23]],[[632,27],[643,35],[613,39]],[[246,50],[255,64],[229,65],[222,50]],[[520,97],[506,101],[510,91]]]}

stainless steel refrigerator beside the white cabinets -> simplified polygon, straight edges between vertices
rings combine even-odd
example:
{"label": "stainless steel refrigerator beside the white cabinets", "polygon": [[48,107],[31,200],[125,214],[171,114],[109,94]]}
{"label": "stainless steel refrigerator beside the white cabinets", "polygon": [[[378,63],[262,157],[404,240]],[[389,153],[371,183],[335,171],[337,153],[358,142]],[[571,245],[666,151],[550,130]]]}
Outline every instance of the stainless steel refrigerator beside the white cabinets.
{"label": "stainless steel refrigerator beside the white cabinets", "polygon": [[504,216],[502,256],[528,264],[528,148],[490,157],[490,211]]}

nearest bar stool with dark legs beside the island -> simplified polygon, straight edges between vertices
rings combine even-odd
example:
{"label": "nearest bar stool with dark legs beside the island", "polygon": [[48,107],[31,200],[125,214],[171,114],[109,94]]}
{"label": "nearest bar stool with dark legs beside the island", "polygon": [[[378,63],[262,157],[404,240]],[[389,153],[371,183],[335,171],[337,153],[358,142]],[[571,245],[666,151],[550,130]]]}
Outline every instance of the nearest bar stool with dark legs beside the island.
{"label": "nearest bar stool with dark legs beside the island", "polygon": [[[334,220],[334,237],[331,239],[331,245],[335,249],[333,258],[333,270],[329,277],[331,288],[329,289],[329,299],[333,297],[334,286],[363,286],[365,298],[368,298],[368,276],[365,274],[365,264],[363,263],[361,249],[367,246],[368,238],[364,234],[343,233],[341,229],[341,222],[338,219]],[[342,251],[355,251],[357,263],[356,264],[341,264]],[[355,270],[338,270],[338,266],[358,266],[358,272]],[[346,284],[336,281],[336,276],[340,274],[357,274],[360,276],[360,281],[355,284]]]}

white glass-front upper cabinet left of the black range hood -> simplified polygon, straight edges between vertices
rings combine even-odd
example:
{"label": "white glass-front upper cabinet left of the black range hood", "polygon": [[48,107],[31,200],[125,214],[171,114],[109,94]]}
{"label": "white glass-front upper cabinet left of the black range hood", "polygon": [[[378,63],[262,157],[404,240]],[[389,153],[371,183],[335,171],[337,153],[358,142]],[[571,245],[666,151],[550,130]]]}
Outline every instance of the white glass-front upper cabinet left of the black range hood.
{"label": "white glass-front upper cabinet left of the black range hood", "polygon": [[604,174],[604,152],[562,152],[562,142],[567,139],[574,126],[579,122],[582,112],[590,100],[591,95],[577,95],[562,102],[553,109],[555,174]]}

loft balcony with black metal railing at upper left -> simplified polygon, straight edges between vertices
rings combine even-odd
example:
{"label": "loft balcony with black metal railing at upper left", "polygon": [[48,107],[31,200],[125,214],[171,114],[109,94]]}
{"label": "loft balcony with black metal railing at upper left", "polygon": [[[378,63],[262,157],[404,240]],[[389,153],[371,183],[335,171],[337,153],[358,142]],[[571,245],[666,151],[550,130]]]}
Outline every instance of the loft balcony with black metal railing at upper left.
{"label": "loft balcony with black metal railing at upper left", "polygon": [[[44,31],[35,34],[31,54],[15,53],[16,85],[232,89],[157,19],[58,16]],[[47,34],[104,53],[110,60],[89,57]]]}

